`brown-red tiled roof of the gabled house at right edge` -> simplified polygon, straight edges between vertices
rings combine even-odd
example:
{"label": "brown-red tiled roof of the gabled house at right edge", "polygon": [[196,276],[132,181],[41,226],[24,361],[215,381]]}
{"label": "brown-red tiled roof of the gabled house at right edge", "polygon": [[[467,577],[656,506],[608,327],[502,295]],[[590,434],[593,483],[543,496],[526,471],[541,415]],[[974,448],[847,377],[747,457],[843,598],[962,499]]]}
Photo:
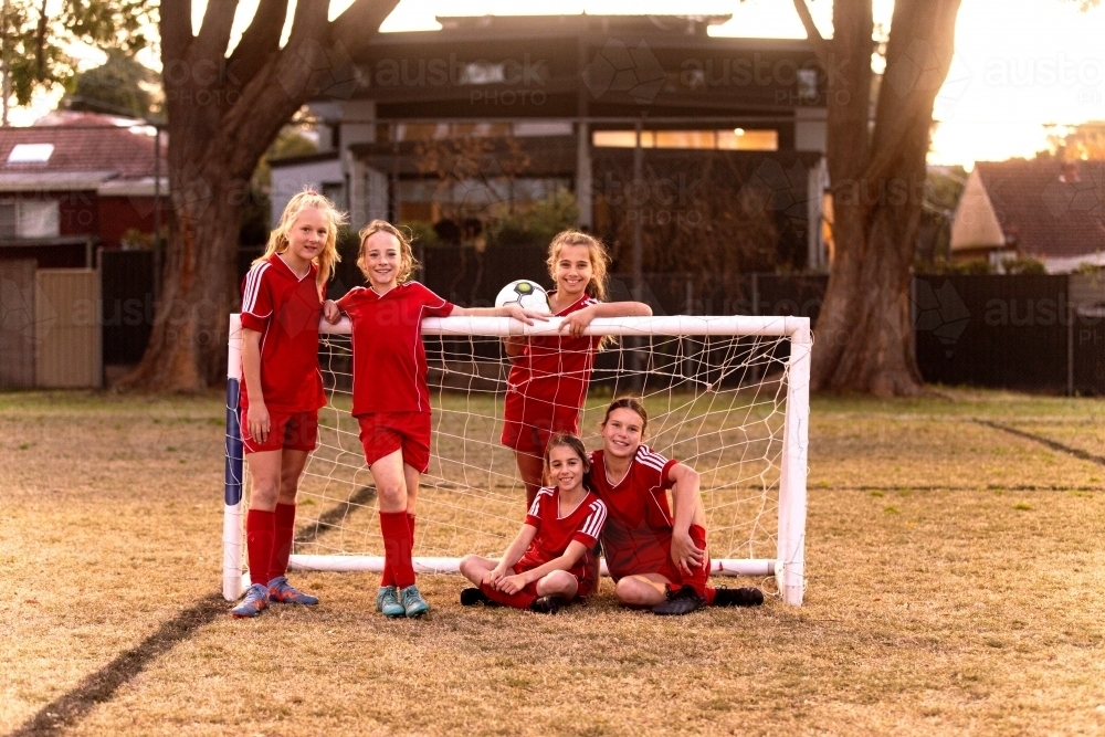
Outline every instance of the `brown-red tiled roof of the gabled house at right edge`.
{"label": "brown-red tiled roof of the gabled house at right edge", "polygon": [[979,161],[994,214],[1018,251],[1041,259],[1105,251],[1105,161],[1077,161],[1076,181],[1056,160]]}

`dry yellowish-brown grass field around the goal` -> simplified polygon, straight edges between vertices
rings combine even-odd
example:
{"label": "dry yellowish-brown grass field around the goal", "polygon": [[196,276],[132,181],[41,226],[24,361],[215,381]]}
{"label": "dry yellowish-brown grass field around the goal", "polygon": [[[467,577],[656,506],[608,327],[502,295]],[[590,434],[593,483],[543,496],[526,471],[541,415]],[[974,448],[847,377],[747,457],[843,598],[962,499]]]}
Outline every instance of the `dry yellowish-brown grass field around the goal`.
{"label": "dry yellowish-brown grass field around the goal", "polygon": [[814,398],[801,609],[666,620],[604,581],[541,618],[424,577],[397,622],[311,573],[318,608],[234,621],[221,398],[0,394],[0,733],[1105,733],[1103,414]]}

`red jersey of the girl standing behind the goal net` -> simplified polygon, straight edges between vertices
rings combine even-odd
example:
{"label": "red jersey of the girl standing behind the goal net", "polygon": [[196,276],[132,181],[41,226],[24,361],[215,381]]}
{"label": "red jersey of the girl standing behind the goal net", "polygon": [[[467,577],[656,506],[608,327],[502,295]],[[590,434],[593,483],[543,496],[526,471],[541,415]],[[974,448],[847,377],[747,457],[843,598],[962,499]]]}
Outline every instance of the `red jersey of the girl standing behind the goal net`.
{"label": "red jersey of the girl standing behind the goal net", "polygon": [[[583,295],[556,317],[594,304],[597,299]],[[601,340],[601,336],[587,335],[530,338],[511,368],[506,420],[543,429],[578,431],[579,409],[587,397],[594,351]]]}

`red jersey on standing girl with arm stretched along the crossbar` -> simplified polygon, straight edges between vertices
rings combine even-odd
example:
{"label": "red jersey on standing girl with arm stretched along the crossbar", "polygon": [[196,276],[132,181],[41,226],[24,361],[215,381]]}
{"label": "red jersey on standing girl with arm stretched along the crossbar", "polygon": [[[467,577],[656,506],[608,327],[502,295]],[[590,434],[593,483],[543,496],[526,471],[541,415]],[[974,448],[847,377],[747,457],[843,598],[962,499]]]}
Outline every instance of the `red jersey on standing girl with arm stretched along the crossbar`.
{"label": "red jersey on standing girl with arm stretched along the crossbar", "polygon": [[429,412],[422,318],[446,317],[453,305],[418,282],[382,297],[357,286],[338,299],[352,322],[352,413]]}

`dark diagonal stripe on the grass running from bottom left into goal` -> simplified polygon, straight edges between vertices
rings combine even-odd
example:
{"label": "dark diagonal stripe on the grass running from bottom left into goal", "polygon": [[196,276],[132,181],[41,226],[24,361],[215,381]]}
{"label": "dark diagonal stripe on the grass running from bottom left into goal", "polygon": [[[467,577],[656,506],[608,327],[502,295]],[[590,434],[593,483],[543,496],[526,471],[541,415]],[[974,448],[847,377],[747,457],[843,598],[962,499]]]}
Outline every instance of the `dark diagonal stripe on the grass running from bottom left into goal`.
{"label": "dark diagonal stripe on the grass running from bottom left into goal", "polygon": [[[376,487],[361,486],[344,503],[322,515],[317,520],[301,529],[295,541],[298,545],[314,543],[330,528],[339,525],[352,510],[366,506],[376,498]],[[115,693],[131,678],[146,670],[159,655],[172,650],[178,643],[192,635],[196,630],[227,614],[227,602],[222,594],[212,593],[192,603],[157,632],[143,640],[136,647],[119,654],[110,663],[87,676],[75,688],[43,706],[39,712],[11,733],[10,737],[44,737],[60,735],[80,722],[97,704],[109,702]]]}

